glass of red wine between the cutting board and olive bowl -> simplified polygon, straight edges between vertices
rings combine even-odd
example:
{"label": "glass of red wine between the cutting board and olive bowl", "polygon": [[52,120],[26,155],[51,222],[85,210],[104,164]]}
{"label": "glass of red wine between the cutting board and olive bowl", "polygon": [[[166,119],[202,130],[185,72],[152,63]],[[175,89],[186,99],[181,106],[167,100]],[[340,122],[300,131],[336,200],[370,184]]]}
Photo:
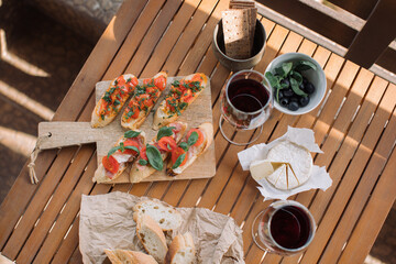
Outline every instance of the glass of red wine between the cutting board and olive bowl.
{"label": "glass of red wine between the cutting board and olive bowl", "polygon": [[[273,92],[264,75],[252,69],[238,72],[227,81],[220,100],[219,128],[224,139],[235,145],[248,145],[257,140],[274,106]],[[248,142],[231,140],[237,131],[245,132],[257,128],[260,132]]]}

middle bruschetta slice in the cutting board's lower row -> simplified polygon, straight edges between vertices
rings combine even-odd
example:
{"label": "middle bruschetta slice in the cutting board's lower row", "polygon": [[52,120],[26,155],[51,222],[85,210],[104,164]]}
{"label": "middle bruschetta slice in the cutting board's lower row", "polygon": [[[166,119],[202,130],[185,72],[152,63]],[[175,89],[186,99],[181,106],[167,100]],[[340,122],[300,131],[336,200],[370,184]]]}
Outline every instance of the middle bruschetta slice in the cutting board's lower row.
{"label": "middle bruschetta slice in the cutting board's lower row", "polygon": [[[182,140],[186,129],[187,123],[173,122],[167,127],[161,128],[157,135],[148,144],[156,147],[161,153],[162,161],[165,161],[172,150],[177,147],[177,142]],[[146,147],[143,147],[138,161],[132,165],[130,182],[139,183],[155,172],[156,169],[150,164],[147,158]]]}

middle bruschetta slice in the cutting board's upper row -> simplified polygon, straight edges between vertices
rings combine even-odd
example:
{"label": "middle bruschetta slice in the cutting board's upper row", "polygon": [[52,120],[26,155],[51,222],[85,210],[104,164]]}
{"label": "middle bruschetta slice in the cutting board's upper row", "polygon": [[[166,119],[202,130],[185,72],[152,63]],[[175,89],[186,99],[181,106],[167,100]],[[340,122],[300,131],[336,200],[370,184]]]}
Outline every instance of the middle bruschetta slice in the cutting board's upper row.
{"label": "middle bruschetta slice in the cutting board's upper row", "polygon": [[121,118],[123,128],[136,130],[142,125],[162,91],[166,88],[166,80],[167,74],[161,72],[153,78],[144,79],[143,85],[136,87]]}

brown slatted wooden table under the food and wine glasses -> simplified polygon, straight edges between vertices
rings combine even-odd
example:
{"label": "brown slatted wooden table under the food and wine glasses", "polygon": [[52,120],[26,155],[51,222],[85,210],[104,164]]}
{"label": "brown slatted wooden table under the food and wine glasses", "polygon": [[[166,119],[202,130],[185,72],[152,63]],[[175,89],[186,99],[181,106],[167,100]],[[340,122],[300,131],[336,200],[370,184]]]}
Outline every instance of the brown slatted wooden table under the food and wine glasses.
{"label": "brown slatted wooden table under the food and wine glasses", "polygon": [[[211,77],[217,174],[211,179],[95,185],[94,144],[42,152],[36,161],[38,185],[24,167],[0,208],[1,253],[16,263],[81,262],[78,211],[81,194],[129,191],[173,206],[205,207],[229,215],[243,228],[246,263],[362,263],[395,200],[396,87],[264,18],[267,46],[256,70],[277,55],[300,52],[324,68],[329,96],[322,108],[292,117],[274,111],[260,142],[286,132],[287,125],[311,128],[324,154],[333,185],[326,193],[306,191],[292,199],[311,210],[317,234],[302,255],[266,254],[252,242],[251,224],[263,202],[255,182],[238,163],[237,152],[218,131],[218,96],[230,72],[219,65],[210,44],[228,0],[127,0],[77,76],[54,120],[89,121],[94,88],[122,73],[150,77],[202,72]],[[249,135],[250,136],[250,135]],[[237,135],[241,139],[241,135]]]}

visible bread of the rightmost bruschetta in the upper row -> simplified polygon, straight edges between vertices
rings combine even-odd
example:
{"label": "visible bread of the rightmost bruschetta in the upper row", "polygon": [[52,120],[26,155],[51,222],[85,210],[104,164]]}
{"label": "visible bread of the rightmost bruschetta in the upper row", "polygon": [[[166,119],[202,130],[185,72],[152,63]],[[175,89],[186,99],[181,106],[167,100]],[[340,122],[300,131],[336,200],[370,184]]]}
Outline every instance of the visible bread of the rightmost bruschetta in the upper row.
{"label": "visible bread of the rightmost bruschetta in the upper row", "polygon": [[199,76],[201,78],[200,86],[202,87],[199,91],[194,94],[193,99],[188,102],[187,107],[179,109],[179,113],[170,112],[166,107],[166,98],[163,100],[154,114],[153,129],[158,130],[164,125],[167,125],[178,119],[178,117],[191,105],[195,99],[205,90],[208,85],[208,77],[205,74],[191,74],[184,78],[185,81],[191,81],[194,78]]}

